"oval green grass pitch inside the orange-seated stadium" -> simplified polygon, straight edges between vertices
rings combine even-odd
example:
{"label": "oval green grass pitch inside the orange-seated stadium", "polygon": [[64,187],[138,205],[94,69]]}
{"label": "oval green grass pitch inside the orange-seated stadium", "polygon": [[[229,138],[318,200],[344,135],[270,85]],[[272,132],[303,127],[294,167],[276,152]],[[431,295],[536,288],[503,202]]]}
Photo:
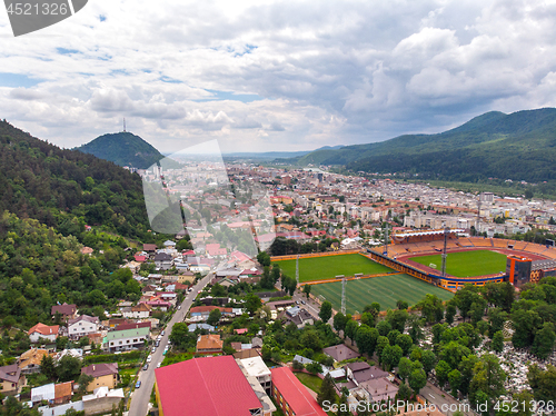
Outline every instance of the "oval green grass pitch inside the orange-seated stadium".
{"label": "oval green grass pitch inside the orange-seated stadium", "polygon": [[[411,257],[410,260],[424,266],[431,263],[436,269],[441,269],[440,255]],[[489,250],[471,250],[448,252],[446,258],[446,273],[456,277],[474,277],[495,275],[506,270],[506,255]]]}

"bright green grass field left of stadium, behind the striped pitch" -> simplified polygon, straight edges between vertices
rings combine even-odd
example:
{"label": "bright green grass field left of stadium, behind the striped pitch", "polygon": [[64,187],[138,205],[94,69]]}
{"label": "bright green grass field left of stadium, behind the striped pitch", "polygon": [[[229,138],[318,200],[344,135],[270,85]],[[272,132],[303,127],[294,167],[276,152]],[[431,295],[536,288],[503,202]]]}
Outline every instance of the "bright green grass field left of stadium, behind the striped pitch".
{"label": "bright green grass field left of stadium, behind the striped pitch", "polygon": [[[296,277],[296,260],[272,261],[280,265],[280,269],[288,276]],[[299,281],[311,281],[334,278],[338,275],[354,276],[377,275],[393,271],[389,267],[379,265],[369,258],[355,255],[309,257],[299,259]]]}

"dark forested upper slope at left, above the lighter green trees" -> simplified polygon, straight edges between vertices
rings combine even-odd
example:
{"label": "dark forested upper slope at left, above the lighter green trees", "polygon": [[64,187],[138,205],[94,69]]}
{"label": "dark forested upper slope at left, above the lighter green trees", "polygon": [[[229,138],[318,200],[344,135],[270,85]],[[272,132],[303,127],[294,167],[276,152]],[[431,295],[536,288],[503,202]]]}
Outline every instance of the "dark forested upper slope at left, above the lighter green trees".
{"label": "dark forested upper slope at left, above the lighter green trees", "polygon": [[0,121],[0,212],[36,218],[64,236],[86,224],[131,238],[149,228],[140,177],[112,162]]}

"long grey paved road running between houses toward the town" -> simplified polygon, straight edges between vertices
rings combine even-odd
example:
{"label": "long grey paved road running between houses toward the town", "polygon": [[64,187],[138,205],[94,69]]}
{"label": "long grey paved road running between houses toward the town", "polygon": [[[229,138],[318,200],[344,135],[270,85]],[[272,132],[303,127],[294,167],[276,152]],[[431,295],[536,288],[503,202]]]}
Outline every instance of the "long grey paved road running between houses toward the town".
{"label": "long grey paved road running between houses toward the town", "polygon": [[181,309],[176,310],[173,317],[170,323],[167,325],[165,329],[165,336],[160,340],[160,345],[152,354],[152,360],[149,364],[149,368],[143,372],[139,370],[139,380],[141,380],[141,387],[133,390],[131,394],[131,406],[129,408],[128,416],[146,416],[149,410],[149,400],[150,393],[152,392],[152,387],[155,386],[155,369],[157,368],[158,363],[161,363],[163,359],[162,351],[165,347],[168,345],[168,337],[171,334],[172,326],[176,323],[180,323],[186,317],[189,308],[191,307],[197,294],[202,290],[205,286],[212,279],[212,273],[205,276],[201,280],[193,286],[193,290],[186,296],[183,303],[181,304]]}

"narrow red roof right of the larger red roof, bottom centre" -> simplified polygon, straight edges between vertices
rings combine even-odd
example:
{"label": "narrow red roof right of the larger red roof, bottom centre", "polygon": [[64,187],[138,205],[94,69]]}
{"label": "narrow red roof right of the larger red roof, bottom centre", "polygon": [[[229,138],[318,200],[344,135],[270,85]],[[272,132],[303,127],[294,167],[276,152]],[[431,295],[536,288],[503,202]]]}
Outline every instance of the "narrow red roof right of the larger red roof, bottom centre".
{"label": "narrow red roof right of the larger red roof, bottom centre", "polygon": [[307,387],[288,367],[272,368],[270,372],[272,385],[280,392],[296,416],[327,416]]}

